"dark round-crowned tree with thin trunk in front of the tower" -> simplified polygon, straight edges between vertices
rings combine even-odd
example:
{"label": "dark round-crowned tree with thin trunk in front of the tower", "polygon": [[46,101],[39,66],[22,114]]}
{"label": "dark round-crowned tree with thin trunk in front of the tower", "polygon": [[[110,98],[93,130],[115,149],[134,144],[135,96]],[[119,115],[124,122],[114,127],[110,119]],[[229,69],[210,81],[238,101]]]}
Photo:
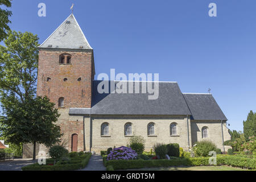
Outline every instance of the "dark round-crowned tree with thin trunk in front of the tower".
{"label": "dark round-crowned tree with thin trunk in front of the tower", "polygon": [[47,97],[27,98],[5,108],[5,115],[0,117],[3,124],[3,136],[6,142],[19,144],[33,143],[33,160],[36,156],[36,143],[47,147],[60,142],[60,127],[55,125],[60,114],[54,103]]}

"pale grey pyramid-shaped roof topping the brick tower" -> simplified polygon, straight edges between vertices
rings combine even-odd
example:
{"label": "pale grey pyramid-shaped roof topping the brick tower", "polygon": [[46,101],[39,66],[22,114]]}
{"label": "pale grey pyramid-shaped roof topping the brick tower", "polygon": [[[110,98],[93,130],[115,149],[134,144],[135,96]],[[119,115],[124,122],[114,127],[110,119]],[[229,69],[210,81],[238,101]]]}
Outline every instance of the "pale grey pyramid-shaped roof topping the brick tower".
{"label": "pale grey pyramid-shaped roof topping the brick tower", "polygon": [[39,48],[92,49],[73,14]]}

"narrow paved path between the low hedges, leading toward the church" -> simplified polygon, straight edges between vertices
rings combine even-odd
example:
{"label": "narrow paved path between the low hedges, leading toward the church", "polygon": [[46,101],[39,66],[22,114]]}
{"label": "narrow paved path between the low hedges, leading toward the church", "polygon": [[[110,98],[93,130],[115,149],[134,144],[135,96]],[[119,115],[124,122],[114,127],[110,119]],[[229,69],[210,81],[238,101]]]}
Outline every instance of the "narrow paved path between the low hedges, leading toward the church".
{"label": "narrow paved path between the low hedges, leading toward the church", "polygon": [[80,171],[106,171],[101,155],[92,155],[87,166]]}

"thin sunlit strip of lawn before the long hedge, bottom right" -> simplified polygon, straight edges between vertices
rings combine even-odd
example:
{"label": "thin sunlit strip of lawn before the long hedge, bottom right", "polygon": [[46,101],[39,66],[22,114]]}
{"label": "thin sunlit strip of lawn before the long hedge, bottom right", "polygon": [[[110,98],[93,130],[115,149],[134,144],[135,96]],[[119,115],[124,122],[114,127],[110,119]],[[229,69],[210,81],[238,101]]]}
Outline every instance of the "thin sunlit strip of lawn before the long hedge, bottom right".
{"label": "thin sunlit strip of lawn before the long hedge, bottom right", "polygon": [[127,169],[127,171],[249,171],[247,169],[235,168],[229,166],[184,166],[184,167],[159,167],[159,168],[142,168]]}

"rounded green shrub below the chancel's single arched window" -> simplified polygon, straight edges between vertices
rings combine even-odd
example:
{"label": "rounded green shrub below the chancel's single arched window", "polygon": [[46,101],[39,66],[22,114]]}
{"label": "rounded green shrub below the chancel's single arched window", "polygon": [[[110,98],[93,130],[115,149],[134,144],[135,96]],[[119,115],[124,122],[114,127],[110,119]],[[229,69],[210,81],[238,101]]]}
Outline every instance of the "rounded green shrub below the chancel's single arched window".
{"label": "rounded green shrub below the chancel's single arched window", "polygon": [[216,144],[209,140],[203,140],[196,143],[196,146],[193,147],[196,156],[207,157],[210,151],[216,151]]}

